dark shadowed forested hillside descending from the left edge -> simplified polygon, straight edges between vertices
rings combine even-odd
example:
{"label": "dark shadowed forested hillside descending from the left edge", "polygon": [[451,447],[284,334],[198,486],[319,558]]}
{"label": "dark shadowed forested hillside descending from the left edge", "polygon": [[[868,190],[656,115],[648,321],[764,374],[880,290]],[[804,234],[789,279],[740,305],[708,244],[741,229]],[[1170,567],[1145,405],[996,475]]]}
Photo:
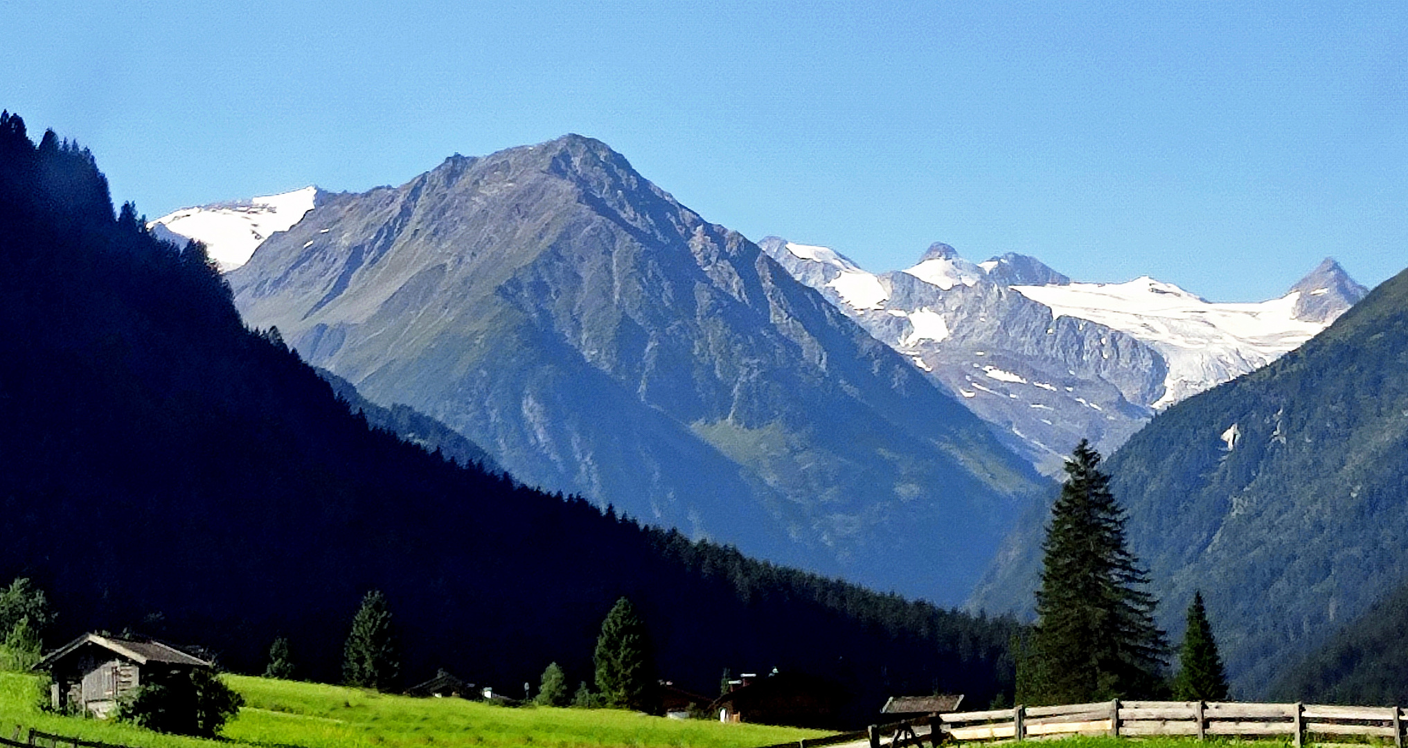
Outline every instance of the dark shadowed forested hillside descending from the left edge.
{"label": "dark shadowed forested hillside descending from the left edge", "polygon": [[[587,679],[600,621],[635,600],[660,673],[839,680],[852,718],[890,693],[1007,687],[1011,621],[749,561],[586,501],[460,468],[348,411],[277,335],[249,331],[199,245],[114,217],[93,156],[0,117],[0,572],[59,611],[54,640],[134,630],[235,671],[289,637],[335,679],[358,600],[384,590],[408,679]],[[52,642],[51,642],[52,644]]]}

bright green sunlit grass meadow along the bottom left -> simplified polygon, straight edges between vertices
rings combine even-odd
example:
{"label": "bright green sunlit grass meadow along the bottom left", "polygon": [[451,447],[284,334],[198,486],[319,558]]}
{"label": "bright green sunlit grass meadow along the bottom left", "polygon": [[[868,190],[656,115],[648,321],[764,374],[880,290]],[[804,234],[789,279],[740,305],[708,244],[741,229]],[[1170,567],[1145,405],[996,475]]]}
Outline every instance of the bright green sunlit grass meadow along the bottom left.
{"label": "bright green sunlit grass meadow along the bottom left", "polygon": [[666,720],[608,709],[507,709],[463,699],[411,699],[360,689],[227,676],[245,697],[224,740],[159,735],[38,709],[41,680],[0,673],[0,734],[15,725],[132,748],[748,748],[822,735],[814,730]]}

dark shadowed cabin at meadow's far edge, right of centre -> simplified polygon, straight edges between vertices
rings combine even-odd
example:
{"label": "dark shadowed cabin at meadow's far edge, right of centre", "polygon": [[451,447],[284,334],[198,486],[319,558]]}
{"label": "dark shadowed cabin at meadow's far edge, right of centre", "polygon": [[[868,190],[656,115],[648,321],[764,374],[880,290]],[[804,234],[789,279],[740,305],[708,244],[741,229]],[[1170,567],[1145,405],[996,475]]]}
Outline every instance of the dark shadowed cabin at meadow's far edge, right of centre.
{"label": "dark shadowed cabin at meadow's far edge, right of centre", "polygon": [[710,711],[721,723],[780,724],[834,728],[848,696],[841,686],[801,673],[773,673],[750,680],[719,696]]}

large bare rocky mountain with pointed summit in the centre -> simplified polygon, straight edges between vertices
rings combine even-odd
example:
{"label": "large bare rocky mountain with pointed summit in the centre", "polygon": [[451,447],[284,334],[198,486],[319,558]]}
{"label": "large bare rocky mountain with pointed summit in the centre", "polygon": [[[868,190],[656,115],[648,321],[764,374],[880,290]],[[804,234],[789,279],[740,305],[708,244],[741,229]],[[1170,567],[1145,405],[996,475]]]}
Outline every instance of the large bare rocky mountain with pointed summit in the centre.
{"label": "large bare rocky mountain with pointed summit in the centre", "polygon": [[962,599],[1042,480],[911,362],[598,141],[324,194],[228,276],[253,325],[520,480]]}

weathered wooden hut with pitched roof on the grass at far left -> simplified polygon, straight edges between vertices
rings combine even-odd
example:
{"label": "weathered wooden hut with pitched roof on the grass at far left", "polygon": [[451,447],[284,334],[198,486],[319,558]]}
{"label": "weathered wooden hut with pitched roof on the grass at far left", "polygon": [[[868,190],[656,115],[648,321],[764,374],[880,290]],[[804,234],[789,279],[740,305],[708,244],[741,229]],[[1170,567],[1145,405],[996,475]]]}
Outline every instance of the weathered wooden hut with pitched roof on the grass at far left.
{"label": "weathered wooden hut with pitched roof on the grass at far left", "polygon": [[54,709],[79,707],[106,718],[122,694],[144,683],[161,683],[193,668],[211,666],[158,641],[83,634],[49,652],[34,669],[52,675],[49,700]]}

